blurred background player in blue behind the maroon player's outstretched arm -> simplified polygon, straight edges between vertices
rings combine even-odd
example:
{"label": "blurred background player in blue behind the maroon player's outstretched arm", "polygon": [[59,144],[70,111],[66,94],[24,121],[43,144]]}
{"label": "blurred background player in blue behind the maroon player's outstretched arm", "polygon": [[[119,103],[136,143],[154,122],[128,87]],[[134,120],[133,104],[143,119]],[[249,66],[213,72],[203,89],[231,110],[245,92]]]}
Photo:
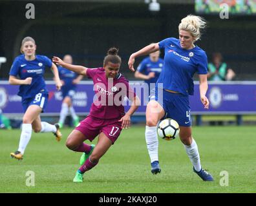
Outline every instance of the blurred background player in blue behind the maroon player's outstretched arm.
{"label": "blurred background player in blue behind the maroon player's outstretched arm", "polygon": [[[73,60],[71,55],[65,55],[63,57],[63,62],[67,64],[72,64]],[[65,123],[65,118],[69,115],[72,116],[73,125],[78,126],[79,117],[76,115],[76,111],[72,106],[72,98],[76,93],[76,85],[83,79],[83,75],[77,75],[74,71],[67,70],[62,66],[58,66],[59,78],[61,79],[62,87],[61,93],[63,101],[61,104],[61,112],[59,115],[59,127],[62,128]]]}

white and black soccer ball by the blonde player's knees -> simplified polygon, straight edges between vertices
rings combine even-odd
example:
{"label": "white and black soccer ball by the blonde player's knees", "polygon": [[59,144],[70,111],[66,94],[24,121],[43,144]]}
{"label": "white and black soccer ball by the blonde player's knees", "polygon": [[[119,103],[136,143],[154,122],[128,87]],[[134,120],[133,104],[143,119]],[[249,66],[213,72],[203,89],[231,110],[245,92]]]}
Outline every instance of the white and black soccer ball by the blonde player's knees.
{"label": "white and black soccer ball by the blonde player's knees", "polygon": [[164,140],[173,140],[178,136],[180,126],[172,118],[165,118],[157,126],[157,133]]}

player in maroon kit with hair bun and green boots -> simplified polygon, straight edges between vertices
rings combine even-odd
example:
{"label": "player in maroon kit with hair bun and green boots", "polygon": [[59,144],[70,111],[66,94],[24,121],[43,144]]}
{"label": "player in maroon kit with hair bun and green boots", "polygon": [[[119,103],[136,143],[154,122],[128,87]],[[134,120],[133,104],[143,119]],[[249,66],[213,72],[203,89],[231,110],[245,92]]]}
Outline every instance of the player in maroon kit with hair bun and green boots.
{"label": "player in maroon kit with hair bun and green boots", "polygon": [[[101,156],[114,144],[122,129],[130,126],[131,115],[140,104],[128,80],[119,72],[121,58],[117,53],[116,48],[110,48],[103,61],[103,67],[93,69],[67,64],[58,57],[53,58],[56,64],[91,78],[96,93],[96,100],[92,103],[89,115],[67,139],[66,145],[69,149],[83,153],[80,158],[81,167],[73,182],[83,182],[83,174],[98,164]],[[122,106],[125,96],[132,101],[131,108],[126,114]],[[83,143],[85,140],[94,140],[98,135],[95,148],[94,145]]]}

